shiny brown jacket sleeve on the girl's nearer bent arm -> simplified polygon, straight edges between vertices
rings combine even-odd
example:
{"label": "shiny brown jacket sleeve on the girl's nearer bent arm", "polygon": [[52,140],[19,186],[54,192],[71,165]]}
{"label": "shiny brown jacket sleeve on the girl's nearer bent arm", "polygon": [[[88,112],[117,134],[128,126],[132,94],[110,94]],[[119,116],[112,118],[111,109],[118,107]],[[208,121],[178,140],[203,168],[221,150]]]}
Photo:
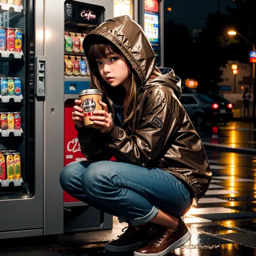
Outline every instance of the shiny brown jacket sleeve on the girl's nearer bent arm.
{"label": "shiny brown jacket sleeve on the girl's nearer bent arm", "polygon": [[147,97],[136,130],[130,136],[114,125],[106,134],[110,151],[126,163],[140,166],[152,164],[166,146],[170,147],[171,142],[166,138],[170,138],[179,127],[178,114],[174,111],[174,105],[179,109],[179,104],[179,100],[166,90]]}

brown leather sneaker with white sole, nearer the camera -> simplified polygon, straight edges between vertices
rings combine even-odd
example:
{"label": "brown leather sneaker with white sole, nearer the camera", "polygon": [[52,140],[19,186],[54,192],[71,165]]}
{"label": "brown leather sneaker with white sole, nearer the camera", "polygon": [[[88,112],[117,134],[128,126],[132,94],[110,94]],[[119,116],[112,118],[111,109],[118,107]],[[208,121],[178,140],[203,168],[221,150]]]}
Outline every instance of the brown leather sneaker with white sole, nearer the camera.
{"label": "brown leather sneaker with white sole, nearer the camera", "polygon": [[191,233],[181,218],[179,218],[178,227],[173,232],[159,225],[153,225],[149,233],[149,240],[133,255],[164,256],[184,245],[191,238]]}

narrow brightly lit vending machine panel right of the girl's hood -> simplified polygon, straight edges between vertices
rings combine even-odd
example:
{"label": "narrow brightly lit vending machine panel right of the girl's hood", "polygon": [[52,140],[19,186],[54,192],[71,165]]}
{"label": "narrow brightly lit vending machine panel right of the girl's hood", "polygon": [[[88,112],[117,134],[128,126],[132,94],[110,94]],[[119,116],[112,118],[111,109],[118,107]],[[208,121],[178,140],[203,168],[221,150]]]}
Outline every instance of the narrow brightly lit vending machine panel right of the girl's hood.
{"label": "narrow brightly lit vending machine panel right of the girl's hood", "polygon": [[159,3],[157,0],[145,0],[144,3],[144,30],[156,55],[157,65],[159,65]]}

